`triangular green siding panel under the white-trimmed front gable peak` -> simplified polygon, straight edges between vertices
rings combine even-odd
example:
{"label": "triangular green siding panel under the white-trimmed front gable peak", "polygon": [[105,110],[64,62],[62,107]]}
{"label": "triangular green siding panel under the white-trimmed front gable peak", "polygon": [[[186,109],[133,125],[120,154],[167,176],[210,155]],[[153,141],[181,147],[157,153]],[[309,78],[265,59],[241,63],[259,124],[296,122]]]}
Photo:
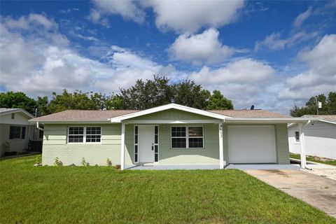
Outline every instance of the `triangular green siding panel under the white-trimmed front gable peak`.
{"label": "triangular green siding panel under the white-trimmed front gable peak", "polygon": [[186,111],[179,111],[176,109],[169,109],[167,111],[160,111],[132,118],[132,120],[216,120],[216,118],[202,116]]}

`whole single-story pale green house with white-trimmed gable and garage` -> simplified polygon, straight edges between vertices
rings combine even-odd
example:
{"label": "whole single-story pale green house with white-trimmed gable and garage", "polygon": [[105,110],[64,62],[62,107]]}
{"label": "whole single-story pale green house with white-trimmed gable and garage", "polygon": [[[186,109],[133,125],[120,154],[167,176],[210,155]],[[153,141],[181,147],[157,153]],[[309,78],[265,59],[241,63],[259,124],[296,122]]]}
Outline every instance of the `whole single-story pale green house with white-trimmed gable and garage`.
{"label": "whole single-story pale green house with white-trimmed gable and garage", "polygon": [[30,120],[44,128],[43,165],[288,164],[287,124],[262,110],[202,111],[167,104],[144,111],[63,111]]}

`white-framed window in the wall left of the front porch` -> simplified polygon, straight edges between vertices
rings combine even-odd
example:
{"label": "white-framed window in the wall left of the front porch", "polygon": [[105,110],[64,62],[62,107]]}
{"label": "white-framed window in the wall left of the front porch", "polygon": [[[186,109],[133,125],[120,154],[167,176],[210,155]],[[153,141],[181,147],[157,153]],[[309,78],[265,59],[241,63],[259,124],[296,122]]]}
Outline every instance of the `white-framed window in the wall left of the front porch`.
{"label": "white-framed window in the wall left of the front porch", "polygon": [[91,144],[102,141],[102,127],[69,127],[69,144]]}

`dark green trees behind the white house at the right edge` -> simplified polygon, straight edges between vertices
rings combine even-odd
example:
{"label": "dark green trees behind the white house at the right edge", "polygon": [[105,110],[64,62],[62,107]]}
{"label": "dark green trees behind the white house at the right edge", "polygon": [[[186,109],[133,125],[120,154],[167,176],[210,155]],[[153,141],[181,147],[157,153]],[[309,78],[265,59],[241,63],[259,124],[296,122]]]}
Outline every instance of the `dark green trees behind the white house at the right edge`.
{"label": "dark green trees behind the white house at the right edge", "polygon": [[325,97],[325,94],[319,94],[318,96],[310,97],[305,106],[294,106],[293,109],[290,109],[290,116],[316,115],[317,102],[322,103],[322,108],[318,109],[318,114],[336,114],[336,92],[329,92],[328,97]]}

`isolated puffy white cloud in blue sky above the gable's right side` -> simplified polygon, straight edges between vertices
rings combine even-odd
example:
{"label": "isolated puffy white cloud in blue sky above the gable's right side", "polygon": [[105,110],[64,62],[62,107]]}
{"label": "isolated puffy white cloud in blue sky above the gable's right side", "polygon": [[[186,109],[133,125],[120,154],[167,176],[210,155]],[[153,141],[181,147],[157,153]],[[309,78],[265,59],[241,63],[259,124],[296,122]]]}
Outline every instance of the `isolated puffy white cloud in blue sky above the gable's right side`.
{"label": "isolated puffy white cloud in blue sky above the gable's right side", "polygon": [[176,38],[168,51],[172,59],[193,64],[223,62],[235,52],[235,49],[223,45],[218,36],[218,30],[213,28],[207,29],[202,34],[183,34]]}

